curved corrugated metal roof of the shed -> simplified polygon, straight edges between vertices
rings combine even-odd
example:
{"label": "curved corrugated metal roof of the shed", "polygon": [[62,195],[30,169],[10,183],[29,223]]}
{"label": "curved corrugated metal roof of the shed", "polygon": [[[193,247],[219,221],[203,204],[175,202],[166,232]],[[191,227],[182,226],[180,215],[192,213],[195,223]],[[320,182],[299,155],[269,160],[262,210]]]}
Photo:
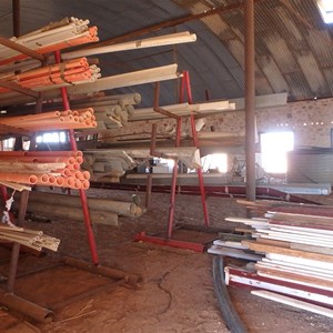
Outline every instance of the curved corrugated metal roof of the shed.
{"label": "curved corrugated metal roof of the shed", "polygon": [[[67,16],[89,19],[108,40],[148,26],[236,4],[235,0],[43,0],[21,1],[21,33]],[[11,1],[0,2],[0,31],[12,36]],[[198,41],[100,56],[102,74],[112,75],[155,65],[179,63],[189,70],[195,101],[244,95],[243,8],[221,11],[201,20],[159,30],[149,36],[190,30]],[[333,94],[333,28],[324,24],[315,0],[255,1],[256,94],[287,92],[289,100],[326,98]],[[176,82],[161,84],[161,103],[176,101]],[[151,105],[153,87],[119,89],[138,91]]]}

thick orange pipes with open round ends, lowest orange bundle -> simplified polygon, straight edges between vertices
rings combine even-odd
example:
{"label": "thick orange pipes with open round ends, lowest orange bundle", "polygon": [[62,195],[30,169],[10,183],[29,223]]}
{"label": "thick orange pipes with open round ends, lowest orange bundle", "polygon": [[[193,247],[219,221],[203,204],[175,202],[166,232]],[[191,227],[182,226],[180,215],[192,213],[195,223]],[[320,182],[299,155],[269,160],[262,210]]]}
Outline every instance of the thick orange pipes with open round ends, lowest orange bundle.
{"label": "thick orange pipes with open round ends, lowest orange bundle", "polygon": [[80,171],[81,151],[0,152],[0,182],[87,190],[90,173]]}

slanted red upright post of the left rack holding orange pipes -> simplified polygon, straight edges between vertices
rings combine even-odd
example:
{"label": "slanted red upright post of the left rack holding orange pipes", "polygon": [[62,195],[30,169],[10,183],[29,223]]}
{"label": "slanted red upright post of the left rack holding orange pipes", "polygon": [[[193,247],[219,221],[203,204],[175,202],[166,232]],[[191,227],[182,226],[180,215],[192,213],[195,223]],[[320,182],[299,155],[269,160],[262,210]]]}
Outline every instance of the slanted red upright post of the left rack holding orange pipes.
{"label": "slanted red upright post of the left rack holding orange pipes", "polygon": [[[57,63],[61,62],[60,51],[54,52],[54,58],[56,58]],[[69,103],[65,87],[60,88],[60,90],[61,90],[63,108],[64,108],[64,110],[70,110],[70,103]],[[78,145],[77,145],[77,141],[75,141],[75,138],[74,138],[74,131],[73,130],[69,130],[69,139],[70,139],[70,143],[71,143],[71,149],[73,151],[77,151]],[[94,239],[94,235],[93,235],[90,214],[89,214],[87,193],[82,189],[80,189],[79,191],[80,191],[80,199],[81,199],[81,204],[82,204],[85,231],[87,231],[87,235],[88,235],[92,263],[98,265],[99,264],[99,256],[98,256],[98,252],[97,252],[95,239]]]}

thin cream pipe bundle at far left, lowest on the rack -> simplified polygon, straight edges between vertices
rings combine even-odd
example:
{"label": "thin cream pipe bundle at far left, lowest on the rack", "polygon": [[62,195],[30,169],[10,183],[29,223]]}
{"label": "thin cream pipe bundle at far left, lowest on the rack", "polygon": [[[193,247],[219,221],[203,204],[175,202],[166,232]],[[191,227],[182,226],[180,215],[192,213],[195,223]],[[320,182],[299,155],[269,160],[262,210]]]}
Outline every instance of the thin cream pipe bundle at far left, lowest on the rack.
{"label": "thin cream pipe bundle at far left, lowest on the rack", "polygon": [[42,231],[18,226],[0,225],[0,241],[16,242],[41,251],[43,248],[58,251],[60,240],[43,234]]}

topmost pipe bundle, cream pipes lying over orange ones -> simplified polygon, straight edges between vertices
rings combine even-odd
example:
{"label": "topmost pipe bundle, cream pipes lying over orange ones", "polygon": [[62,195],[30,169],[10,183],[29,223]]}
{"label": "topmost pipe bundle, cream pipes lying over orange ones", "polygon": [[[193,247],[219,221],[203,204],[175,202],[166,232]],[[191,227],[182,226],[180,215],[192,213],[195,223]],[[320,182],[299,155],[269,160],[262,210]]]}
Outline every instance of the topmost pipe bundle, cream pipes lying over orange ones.
{"label": "topmost pipe bundle, cream pipes lying over orange ones", "polygon": [[[13,37],[11,41],[41,54],[99,41],[98,28],[88,27],[89,23],[89,20],[65,18],[19,38]],[[0,65],[27,58],[29,56],[0,46]]]}

